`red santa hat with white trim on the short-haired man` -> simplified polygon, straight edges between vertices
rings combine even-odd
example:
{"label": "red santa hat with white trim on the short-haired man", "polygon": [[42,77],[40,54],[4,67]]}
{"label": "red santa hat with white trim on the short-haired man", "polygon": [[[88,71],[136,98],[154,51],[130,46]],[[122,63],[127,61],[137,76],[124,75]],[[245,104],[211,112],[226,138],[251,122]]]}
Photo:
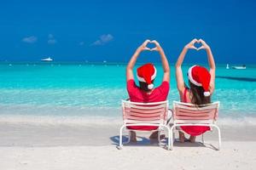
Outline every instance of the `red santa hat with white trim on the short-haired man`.
{"label": "red santa hat with white trim on the short-haired man", "polygon": [[142,65],[139,68],[137,68],[137,79],[140,82],[147,82],[148,89],[153,89],[154,84],[152,81],[156,77],[156,69],[154,65],[148,63],[146,65]]}

